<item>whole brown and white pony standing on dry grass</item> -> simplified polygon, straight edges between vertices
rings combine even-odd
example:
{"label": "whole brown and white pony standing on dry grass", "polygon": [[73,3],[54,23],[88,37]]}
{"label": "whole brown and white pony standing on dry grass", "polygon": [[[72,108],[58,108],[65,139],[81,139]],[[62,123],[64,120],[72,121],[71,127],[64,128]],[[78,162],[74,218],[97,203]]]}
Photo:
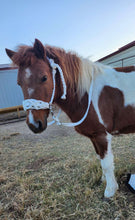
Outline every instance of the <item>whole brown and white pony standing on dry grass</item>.
{"label": "whole brown and white pony standing on dry grass", "polygon": [[[90,138],[101,159],[102,179],[106,180],[104,196],[112,197],[118,189],[114,176],[111,137],[114,134],[135,132],[135,68],[113,69],[83,59],[63,49],[43,46],[35,40],[33,46],[20,46],[17,52],[6,49],[18,66],[18,84],[24,99],[50,101],[53,92],[53,59],[63,72],[67,96],[61,99],[63,85],[59,70],[55,75],[56,103],[71,119],[79,121],[86,112],[88,92],[93,73],[92,100],[86,119],[75,130]],[[129,72],[129,73],[125,73]],[[27,110],[29,128],[39,133],[47,128],[49,109]]]}

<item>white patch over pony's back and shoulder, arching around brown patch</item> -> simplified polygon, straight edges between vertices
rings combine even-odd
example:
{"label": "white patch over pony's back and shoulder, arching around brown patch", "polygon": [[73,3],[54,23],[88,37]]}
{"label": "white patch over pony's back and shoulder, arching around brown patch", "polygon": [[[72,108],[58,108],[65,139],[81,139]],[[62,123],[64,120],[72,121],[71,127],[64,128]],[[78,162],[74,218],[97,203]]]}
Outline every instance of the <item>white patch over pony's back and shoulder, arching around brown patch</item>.
{"label": "white patch over pony's back and shoulder, arching around brown patch", "polygon": [[135,107],[135,71],[123,73],[108,67],[104,69],[104,74],[100,74],[95,78],[92,103],[100,123],[105,126],[98,106],[99,97],[104,86],[119,89],[124,96],[124,106],[132,105]]}

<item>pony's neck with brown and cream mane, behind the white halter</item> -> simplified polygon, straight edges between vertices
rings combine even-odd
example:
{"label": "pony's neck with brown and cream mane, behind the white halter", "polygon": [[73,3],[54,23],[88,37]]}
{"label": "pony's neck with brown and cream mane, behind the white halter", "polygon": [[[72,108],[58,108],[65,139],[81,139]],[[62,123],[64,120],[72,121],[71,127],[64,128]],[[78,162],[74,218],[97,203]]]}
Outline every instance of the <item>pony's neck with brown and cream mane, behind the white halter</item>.
{"label": "pony's neck with brown and cream mane, behind the white halter", "polygon": [[[65,60],[63,60],[64,58]],[[59,65],[66,81],[67,97],[66,100],[61,99],[63,88],[59,77],[56,82],[55,103],[72,121],[76,121],[83,116],[87,109],[92,75],[95,78],[97,75],[103,74],[105,66],[71,53],[65,53],[63,59]]]}

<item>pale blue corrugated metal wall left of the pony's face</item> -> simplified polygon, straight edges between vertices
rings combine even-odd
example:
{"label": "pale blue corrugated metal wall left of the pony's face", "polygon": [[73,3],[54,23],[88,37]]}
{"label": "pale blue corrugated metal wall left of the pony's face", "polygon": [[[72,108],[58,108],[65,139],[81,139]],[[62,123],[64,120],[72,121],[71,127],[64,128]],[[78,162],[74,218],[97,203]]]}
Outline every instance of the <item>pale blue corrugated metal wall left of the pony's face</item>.
{"label": "pale blue corrugated metal wall left of the pony's face", "polygon": [[17,85],[17,69],[0,70],[0,108],[22,105],[23,94]]}

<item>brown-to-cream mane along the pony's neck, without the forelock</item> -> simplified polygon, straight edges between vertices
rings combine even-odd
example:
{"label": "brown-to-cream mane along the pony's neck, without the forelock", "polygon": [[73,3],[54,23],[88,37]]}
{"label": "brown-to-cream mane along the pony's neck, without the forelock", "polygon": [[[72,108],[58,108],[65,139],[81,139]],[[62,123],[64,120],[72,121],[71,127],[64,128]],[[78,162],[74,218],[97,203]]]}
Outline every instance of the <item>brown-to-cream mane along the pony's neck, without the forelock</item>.
{"label": "brown-to-cream mane along the pony's neck, without the forelock", "polygon": [[45,50],[47,56],[53,58],[62,68],[66,83],[70,84],[71,88],[75,87],[81,97],[85,92],[89,92],[92,72],[96,77],[102,74],[106,67],[103,64],[82,58],[75,52],[66,52],[64,49],[51,46],[45,46]]}

